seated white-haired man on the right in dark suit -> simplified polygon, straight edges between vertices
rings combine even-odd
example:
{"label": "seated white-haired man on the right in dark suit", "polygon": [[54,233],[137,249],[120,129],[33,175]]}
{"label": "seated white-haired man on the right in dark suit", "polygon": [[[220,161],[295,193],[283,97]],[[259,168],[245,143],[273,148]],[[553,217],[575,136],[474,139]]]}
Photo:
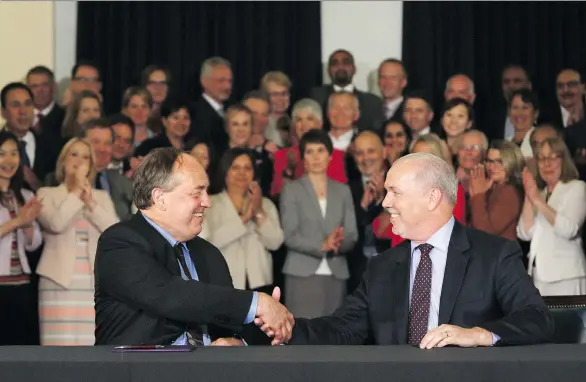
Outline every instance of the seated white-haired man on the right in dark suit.
{"label": "seated white-haired man on the right in dark suit", "polygon": [[[394,232],[408,240],[372,258],[334,314],[297,319],[289,343],[358,345],[369,334],[376,344],[427,349],[548,341],[551,313],[518,244],[456,222],[457,188],[441,158],[418,153],[396,161],[383,207]],[[271,334],[269,327],[262,329]]]}

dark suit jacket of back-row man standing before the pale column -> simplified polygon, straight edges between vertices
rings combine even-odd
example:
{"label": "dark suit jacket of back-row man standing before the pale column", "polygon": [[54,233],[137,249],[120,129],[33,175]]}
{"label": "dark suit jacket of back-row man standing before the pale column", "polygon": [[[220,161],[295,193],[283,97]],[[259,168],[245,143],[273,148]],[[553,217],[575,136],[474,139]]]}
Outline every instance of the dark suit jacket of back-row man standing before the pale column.
{"label": "dark suit jacket of back-row man standing before the pale column", "polygon": [[[326,130],[329,130],[329,122],[327,121],[328,99],[334,92],[332,85],[323,85],[311,89],[310,98],[317,101],[324,113],[324,122],[326,123]],[[360,108],[360,117],[356,122],[358,130],[371,130],[378,132],[382,124],[385,122],[383,114],[383,101],[376,95],[368,92],[363,92],[354,89],[354,95],[358,98]]]}

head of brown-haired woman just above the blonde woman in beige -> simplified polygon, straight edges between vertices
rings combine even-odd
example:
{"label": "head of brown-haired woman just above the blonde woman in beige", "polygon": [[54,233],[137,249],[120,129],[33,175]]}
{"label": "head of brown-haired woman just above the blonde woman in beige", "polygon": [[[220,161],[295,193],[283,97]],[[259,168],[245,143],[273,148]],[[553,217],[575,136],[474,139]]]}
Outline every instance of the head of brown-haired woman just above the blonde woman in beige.
{"label": "head of brown-haired woman just above the blonde woman in beige", "polygon": [[90,90],[81,91],[67,106],[61,136],[65,141],[80,136],[82,126],[87,121],[100,118],[102,115],[100,97]]}

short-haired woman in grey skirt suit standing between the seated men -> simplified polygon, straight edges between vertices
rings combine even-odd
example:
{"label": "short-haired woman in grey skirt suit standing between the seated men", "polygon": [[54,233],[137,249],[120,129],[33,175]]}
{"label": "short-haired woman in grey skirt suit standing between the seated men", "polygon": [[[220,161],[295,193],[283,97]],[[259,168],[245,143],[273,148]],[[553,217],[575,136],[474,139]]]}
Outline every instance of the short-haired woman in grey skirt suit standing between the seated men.
{"label": "short-haired woman in grey skirt suit standing between the seated men", "polygon": [[358,240],[350,188],[326,175],[333,147],[323,130],[310,130],[299,143],[306,174],[285,184],[281,224],[287,247],[285,298],[299,317],[332,313],[346,295],[346,255]]}

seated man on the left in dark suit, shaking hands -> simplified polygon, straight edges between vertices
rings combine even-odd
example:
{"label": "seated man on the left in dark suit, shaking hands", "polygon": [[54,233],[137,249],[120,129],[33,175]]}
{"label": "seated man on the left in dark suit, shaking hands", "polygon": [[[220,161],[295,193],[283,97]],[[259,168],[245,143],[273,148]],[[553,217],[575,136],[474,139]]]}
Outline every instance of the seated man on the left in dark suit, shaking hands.
{"label": "seated man on the left in dark suit, shaking hands", "polygon": [[275,341],[290,338],[288,310],[267,294],[234,289],[220,251],[197,237],[208,183],[197,159],[174,148],[155,149],[140,164],[140,212],[98,242],[96,345],[238,346],[235,335],[254,317],[276,328]]}

